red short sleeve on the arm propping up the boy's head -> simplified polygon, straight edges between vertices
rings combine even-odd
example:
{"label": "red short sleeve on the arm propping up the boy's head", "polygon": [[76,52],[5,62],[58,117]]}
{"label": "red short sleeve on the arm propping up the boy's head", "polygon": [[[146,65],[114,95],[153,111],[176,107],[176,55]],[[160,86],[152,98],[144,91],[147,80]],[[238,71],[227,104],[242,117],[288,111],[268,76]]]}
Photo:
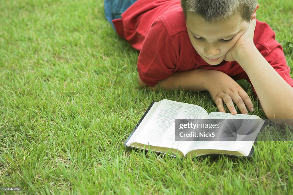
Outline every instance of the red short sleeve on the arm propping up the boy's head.
{"label": "red short sleeve on the arm propping up the boy's head", "polygon": [[[261,45],[256,45],[258,50],[260,50]],[[263,50],[264,51],[264,50]],[[268,51],[267,51],[268,52]],[[264,55],[266,52],[261,52]],[[277,73],[291,86],[293,87],[293,79],[290,76],[290,68],[286,63],[286,59],[284,56],[284,52],[281,44],[277,43],[276,47],[268,53],[268,55],[264,56],[264,58],[270,63],[270,65],[277,71]],[[247,77],[246,79],[250,84],[251,81]],[[253,85],[251,84],[254,94],[257,96]]]}

